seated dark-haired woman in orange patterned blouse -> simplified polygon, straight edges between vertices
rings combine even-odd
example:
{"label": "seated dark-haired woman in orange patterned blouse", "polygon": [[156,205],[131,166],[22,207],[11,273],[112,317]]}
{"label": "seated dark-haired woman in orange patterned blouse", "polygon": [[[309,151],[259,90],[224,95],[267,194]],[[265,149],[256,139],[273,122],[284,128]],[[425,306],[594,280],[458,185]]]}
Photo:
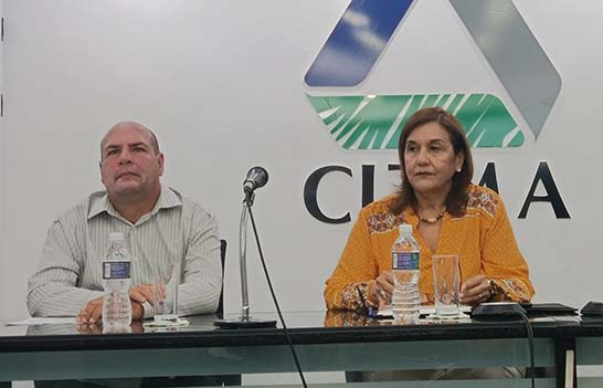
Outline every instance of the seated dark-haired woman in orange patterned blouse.
{"label": "seated dark-haired woman in orange patterned blouse", "polygon": [[470,182],[473,160],[458,120],[440,107],[416,112],[400,136],[402,187],[360,211],[327,281],[327,308],[378,306],[391,301],[391,247],[410,223],[421,248],[419,290],[433,301],[433,254],[458,254],[461,303],[528,302],[529,271],[493,190]]}

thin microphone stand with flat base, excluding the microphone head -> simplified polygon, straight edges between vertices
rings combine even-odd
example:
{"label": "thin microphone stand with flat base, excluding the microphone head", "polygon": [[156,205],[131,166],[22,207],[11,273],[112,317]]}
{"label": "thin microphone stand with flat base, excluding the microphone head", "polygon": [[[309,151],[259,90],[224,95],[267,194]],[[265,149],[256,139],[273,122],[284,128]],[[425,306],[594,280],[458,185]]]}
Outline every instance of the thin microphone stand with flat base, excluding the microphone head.
{"label": "thin microphone stand with flat base, excluding the microphone head", "polygon": [[276,327],[276,321],[257,319],[250,316],[250,297],[247,292],[247,216],[251,213],[255,193],[245,191],[241,222],[239,224],[239,259],[241,269],[241,316],[233,319],[218,319],[214,325],[222,328],[263,328]]}

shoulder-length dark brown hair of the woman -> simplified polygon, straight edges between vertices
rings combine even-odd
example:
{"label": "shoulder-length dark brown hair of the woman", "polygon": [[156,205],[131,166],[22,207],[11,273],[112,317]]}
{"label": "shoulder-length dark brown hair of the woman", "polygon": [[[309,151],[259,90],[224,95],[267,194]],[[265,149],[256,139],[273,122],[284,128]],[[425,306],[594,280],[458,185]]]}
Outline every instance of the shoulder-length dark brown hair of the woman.
{"label": "shoulder-length dark brown hair of the woman", "polygon": [[409,136],[417,127],[427,124],[437,123],[448,134],[454,148],[454,155],[463,154],[463,167],[461,172],[455,172],[451,186],[451,192],[446,197],[446,211],[453,216],[463,216],[467,205],[467,189],[473,178],[473,159],[469,149],[469,144],[465,137],[465,130],[456,117],[441,107],[429,107],[417,111],[413,114],[398,141],[398,156],[400,157],[400,171],[402,177],[402,186],[395,198],[390,202],[390,211],[394,214],[400,214],[406,207],[416,206],[416,196],[414,189],[406,177],[406,166],[404,165],[404,149]]}

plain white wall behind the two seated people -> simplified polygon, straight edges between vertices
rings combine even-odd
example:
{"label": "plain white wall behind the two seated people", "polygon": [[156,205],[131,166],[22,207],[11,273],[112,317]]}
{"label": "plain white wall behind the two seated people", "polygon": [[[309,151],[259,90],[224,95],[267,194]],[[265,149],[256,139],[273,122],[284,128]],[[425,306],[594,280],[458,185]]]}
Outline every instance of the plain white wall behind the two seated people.
{"label": "plain white wall behind the two seated people", "polygon": [[[479,180],[495,161],[537,301],[603,300],[599,179],[603,133],[603,4],[516,0],[561,74],[562,88],[537,141],[475,149]],[[256,221],[284,310],[322,308],[324,282],[351,223],[329,226],[305,209],[307,177],[349,167],[318,191],[330,217],[360,209],[361,166],[375,165],[375,198],[391,192],[396,153],[349,151],[327,134],[304,75],[348,0],[3,0],[0,319],[27,316],[27,279],[53,218],[100,187],[98,143],[114,123],[152,128],[166,154],[165,183],[213,212],[230,242],[225,307],[240,308],[236,265],[241,182],[262,165]],[[422,59],[417,61],[416,59]],[[426,60],[423,60],[426,59]],[[521,59],[515,61],[520,65]],[[486,92],[515,105],[447,0],[422,0],[355,94]],[[324,92],[322,92],[324,93]],[[340,91],[329,90],[327,94]],[[571,214],[548,203],[518,219],[538,164],[551,168]],[[250,244],[253,311],[273,311]]]}

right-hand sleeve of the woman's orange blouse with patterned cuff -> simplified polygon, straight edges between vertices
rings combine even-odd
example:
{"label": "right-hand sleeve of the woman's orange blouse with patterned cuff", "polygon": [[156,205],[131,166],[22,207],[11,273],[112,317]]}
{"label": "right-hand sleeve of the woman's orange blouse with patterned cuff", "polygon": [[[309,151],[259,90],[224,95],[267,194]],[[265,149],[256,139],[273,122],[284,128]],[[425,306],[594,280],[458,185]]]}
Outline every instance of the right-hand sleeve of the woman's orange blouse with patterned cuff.
{"label": "right-hand sleeve of the woman's orange blouse with patterned cuff", "polygon": [[512,232],[505,205],[498,199],[494,222],[484,235],[483,265],[496,289],[496,301],[529,302],[533,287],[526,260]]}

